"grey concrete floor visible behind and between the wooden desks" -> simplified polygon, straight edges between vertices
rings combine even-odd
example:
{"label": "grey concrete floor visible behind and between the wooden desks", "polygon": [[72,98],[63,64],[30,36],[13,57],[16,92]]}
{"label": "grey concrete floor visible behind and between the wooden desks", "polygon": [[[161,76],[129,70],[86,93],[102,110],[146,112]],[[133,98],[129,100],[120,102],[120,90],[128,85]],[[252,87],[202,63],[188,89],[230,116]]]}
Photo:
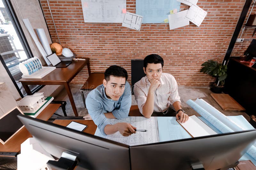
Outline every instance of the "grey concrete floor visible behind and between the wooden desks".
{"label": "grey concrete floor visible behind and between the wooden desks", "polygon": [[[78,112],[78,116],[84,116],[86,114],[88,114],[88,111],[86,109],[84,109],[84,103],[82,100],[82,96],[81,93],[79,91],[80,86],[77,85],[71,85],[71,91],[74,97],[74,101],[76,103],[76,109]],[[180,99],[181,99],[181,104],[182,104],[182,109],[186,111],[186,113],[188,115],[197,115],[200,116],[199,114],[196,113],[195,110],[193,110],[192,108],[190,108],[190,106],[188,106],[186,104],[186,102],[191,99],[193,101],[195,101],[197,98],[202,98],[204,99],[207,103],[211,104],[213,107],[215,107],[217,110],[219,110],[221,113],[223,113],[226,116],[237,116],[237,115],[243,115],[246,120],[250,120],[250,117],[245,113],[245,112],[238,112],[238,111],[224,111],[221,109],[221,107],[218,105],[218,103],[216,103],[213,98],[210,96],[210,94],[212,93],[209,88],[193,88],[193,87],[179,87],[179,95],[180,95]],[[87,94],[89,92],[87,92],[84,96],[86,98]],[[68,116],[75,116],[74,112],[72,110],[70,101],[68,99],[68,95],[65,89],[63,89],[60,94],[54,99],[55,101],[66,101],[67,105],[66,105],[66,112]],[[132,105],[137,105],[135,99],[134,99],[134,95],[132,95]],[[57,114],[59,115],[63,115],[63,112],[61,109],[58,109],[56,111]],[[53,115],[52,118],[57,117],[56,115]]]}

